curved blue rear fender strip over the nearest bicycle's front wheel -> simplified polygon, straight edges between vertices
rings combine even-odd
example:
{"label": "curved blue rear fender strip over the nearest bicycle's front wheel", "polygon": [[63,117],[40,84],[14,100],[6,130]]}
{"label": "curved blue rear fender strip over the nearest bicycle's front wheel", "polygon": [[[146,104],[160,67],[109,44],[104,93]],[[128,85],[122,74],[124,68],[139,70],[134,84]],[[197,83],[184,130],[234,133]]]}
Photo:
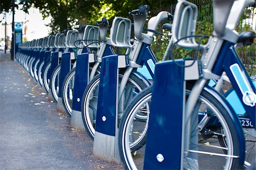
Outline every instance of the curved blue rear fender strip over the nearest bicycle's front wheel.
{"label": "curved blue rear fender strip over the nearest bicycle's front wheel", "polygon": [[245,160],[245,138],[244,138],[243,127],[240,123],[240,120],[237,117],[234,109],[229,104],[229,102],[222,95],[220,95],[218,92],[216,92],[216,90],[214,90],[212,87],[209,87],[208,85],[204,87],[204,90],[206,92],[209,92],[214,98],[216,98],[216,100],[218,100],[222,104],[222,106],[228,111],[231,120],[234,122],[234,124],[236,124],[235,128],[238,134],[239,147],[240,147],[239,163],[240,163],[240,166],[242,167]]}

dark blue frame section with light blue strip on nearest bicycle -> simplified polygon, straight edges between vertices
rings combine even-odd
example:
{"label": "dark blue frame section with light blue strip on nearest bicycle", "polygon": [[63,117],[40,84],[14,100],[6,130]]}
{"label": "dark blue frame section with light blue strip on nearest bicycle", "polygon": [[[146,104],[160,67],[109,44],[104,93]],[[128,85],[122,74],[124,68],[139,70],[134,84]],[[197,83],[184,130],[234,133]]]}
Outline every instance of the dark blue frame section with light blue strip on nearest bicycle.
{"label": "dark blue frame section with light blue strip on nearest bicycle", "polygon": [[256,89],[243,63],[239,59],[234,49],[234,43],[224,41],[222,49],[214,65],[213,73],[221,75],[225,71],[239,97],[245,111],[256,127]]}

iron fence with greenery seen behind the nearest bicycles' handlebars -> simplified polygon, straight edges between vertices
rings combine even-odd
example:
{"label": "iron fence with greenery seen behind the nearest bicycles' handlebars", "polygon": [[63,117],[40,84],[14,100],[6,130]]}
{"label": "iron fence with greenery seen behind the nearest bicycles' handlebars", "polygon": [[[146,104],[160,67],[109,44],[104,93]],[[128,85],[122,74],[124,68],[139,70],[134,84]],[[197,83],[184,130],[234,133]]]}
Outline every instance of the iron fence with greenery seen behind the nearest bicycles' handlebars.
{"label": "iron fence with greenery seen behind the nearest bicycles' handlebars", "polygon": [[[197,16],[197,26],[196,26],[196,34],[200,35],[211,35],[213,32],[213,5],[212,0],[189,0],[194,3],[198,7],[198,16]],[[162,7],[158,10],[152,10],[149,12],[150,16],[155,16],[160,11],[168,11],[174,14],[175,4],[167,7]],[[162,23],[163,24],[163,23]],[[158,31],[163,32],[162,35],[155,35],[154,42],[152,44],[152,50],[154,51],[158,60],[162,59],[162,56],[165,52],[165,49],[168,45],[168,32],[166,30],[162,30],[162,24],[158,26]],[[239,24],[236,28],[238,33],[242,33],[247,30],[256,30],[256,8],[255,7],[247,7],[244,10],[241,19],[239,20]],[[207,40],[205,40],[207,41]],[[256,46],[255,44],[251,46],[242,46],[237,49],[237,53],[243,61],[244,66],[246,67],[249,75],[256,74]],[[174,55],[175,57],[187,58],[189,56],[193,56],[195,52],[193,50],[184,50],[181,48],[175,49]]]}

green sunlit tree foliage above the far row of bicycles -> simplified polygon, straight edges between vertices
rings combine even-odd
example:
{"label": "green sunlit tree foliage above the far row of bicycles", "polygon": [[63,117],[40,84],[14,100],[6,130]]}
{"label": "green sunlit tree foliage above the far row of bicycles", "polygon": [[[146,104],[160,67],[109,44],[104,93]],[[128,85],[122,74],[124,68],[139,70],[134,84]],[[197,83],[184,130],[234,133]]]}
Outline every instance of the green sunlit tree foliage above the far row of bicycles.
{"label": "green sunlit tree foliage above the far row of bicycles", "polygon": [[51,15],[53,19],[50,26],[54,33],[77,25],[95,25],[95,21],[103,17],[111,23],[115,16],[129,17],[128,11],[140,5],[158,9],[172,2],[175,0],[20,0],[25,12],[29,7],[36,7],[43,17]]}

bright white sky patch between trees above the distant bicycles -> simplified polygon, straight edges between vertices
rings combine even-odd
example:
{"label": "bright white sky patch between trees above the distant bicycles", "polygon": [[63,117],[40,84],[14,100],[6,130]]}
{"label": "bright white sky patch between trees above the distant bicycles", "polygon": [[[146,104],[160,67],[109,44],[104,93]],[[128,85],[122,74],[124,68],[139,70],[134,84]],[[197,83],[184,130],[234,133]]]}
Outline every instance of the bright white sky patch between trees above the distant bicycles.
{"label": "bright white sky patch between trees above the distant bicycles", "polygon": [[[2,20],[4,14],[0,14],[0,20]],[[13,20],[13,15],[11,12],[7,13],[7,24],[11,24]],[[27,22],[26,22],[27,21]],[[5,20],[2,20],[4,23]],[[39,9],[30,8],[28,14],[22,10],[15,10],[14,22],[26,22],[27,25],[27,40],[39,39],[49,35],[50,27],[45,26],[51,22],[51,17],[47,17],[45,20],[42,18],[42,14]]]}

